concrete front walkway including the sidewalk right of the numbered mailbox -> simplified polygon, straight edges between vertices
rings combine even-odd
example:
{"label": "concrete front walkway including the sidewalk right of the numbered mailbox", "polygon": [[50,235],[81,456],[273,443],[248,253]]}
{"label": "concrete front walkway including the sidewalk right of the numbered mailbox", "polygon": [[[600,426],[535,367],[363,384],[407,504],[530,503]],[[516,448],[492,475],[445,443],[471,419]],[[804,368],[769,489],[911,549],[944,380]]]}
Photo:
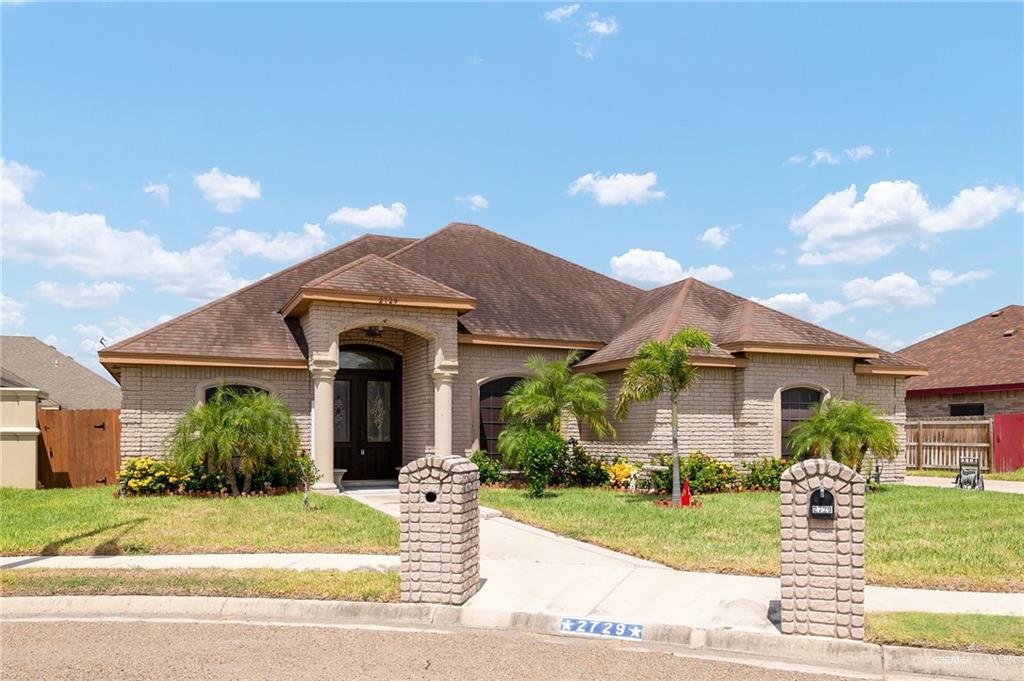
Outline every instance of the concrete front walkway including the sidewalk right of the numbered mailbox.
{"label": "concrete front walkway including the sidewalk right of the numbered mailbox", "polygon": [[[395,490],[346,494],[398,514]],[[777,608],[777,578],[676,570],[501,517],[494,509],[481,513],[480,573],[483,588],[465,607],[777,631],[768,616],[769,608]],[[868,586],[864,607],[1024,615],[1024,594]]]}

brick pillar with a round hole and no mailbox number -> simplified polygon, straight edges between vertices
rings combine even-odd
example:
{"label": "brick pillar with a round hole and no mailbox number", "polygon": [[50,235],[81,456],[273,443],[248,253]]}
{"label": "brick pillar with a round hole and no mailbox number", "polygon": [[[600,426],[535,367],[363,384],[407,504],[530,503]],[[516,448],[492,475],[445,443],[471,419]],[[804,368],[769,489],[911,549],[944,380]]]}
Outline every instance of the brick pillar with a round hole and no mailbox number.
{"label": "brick pillar with a round hole and no mailbox number", "polygon": [[401,600],[462,605],[480,587],[480,473],[428,456],[398,473]]}

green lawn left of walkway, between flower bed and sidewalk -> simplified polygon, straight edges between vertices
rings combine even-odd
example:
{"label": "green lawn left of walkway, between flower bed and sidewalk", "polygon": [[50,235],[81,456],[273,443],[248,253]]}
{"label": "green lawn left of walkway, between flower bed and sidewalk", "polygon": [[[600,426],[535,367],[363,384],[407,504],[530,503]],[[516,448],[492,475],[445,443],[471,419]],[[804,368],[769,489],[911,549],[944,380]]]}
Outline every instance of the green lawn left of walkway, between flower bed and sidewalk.
{"label": "green lawn left of walkway, between flower bed and sidewalk", "polygon": [[0,555],[397,553],[398,523],[347,497],[130,497],[0,488]]}

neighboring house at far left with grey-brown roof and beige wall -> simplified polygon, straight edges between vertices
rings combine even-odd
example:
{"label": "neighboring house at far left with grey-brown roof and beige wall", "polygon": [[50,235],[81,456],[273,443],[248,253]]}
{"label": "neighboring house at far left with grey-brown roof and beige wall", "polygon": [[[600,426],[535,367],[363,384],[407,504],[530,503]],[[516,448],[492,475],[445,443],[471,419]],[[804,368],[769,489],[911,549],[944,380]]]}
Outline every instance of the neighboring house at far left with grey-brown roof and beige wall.
{"label": "neighboring house at far left with grey-brown roof and beige wall", "polygon": [[37,409],[118,409],[118,386],[32,336],[0,336],[0,486],[36,488]]}

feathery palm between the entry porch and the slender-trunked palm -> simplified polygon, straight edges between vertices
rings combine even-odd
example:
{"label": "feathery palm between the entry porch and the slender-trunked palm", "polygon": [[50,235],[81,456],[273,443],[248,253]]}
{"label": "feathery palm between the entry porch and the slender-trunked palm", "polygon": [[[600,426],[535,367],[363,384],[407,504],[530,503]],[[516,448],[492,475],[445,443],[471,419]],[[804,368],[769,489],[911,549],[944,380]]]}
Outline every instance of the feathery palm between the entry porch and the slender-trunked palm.
{"label": "feathery palm between the entry porch and the slender-trunked palm", "polygon": [[510,424],[535,424],[560,433],[562,415],[571,414],[598,437],[614,435],[607,416],[607,386],[593,374],[573,372],[572,365],[579,359],[579,350],[555,361],[541,356],[527,359],[530,375],[509,390],[502,416]]}

